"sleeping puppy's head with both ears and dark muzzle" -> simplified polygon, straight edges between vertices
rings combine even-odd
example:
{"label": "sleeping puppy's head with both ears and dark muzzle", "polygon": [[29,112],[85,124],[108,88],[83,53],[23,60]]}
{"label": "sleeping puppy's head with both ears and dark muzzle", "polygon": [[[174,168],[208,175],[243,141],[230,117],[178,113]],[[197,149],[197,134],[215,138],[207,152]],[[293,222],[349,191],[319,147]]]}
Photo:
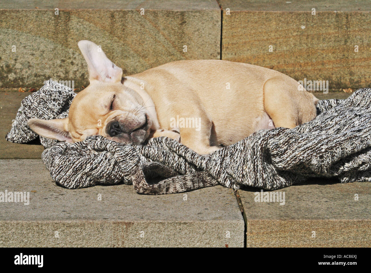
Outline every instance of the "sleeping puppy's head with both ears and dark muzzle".
{"label": "sleeping puppy's head with both ears and dark muzzle", "polygon": [[142,144],[152,120],[141,95],[123,85],[122,69],[111,62],[95,43],[78,43],[89,70],[90,84],[73,99],[68,118],[28,120],[40,136],[78,142],[101,135],[115,142]]}

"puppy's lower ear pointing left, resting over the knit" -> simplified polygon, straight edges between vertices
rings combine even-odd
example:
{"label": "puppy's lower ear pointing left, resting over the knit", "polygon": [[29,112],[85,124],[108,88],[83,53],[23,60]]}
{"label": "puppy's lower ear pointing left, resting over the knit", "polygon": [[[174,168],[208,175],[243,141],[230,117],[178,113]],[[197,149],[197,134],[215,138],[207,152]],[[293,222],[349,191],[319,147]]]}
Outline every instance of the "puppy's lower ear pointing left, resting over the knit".
{"label": "puppy's lower ear pointing left, resting over the knit", "polygon": [[68,117],[57,118],[54,120],[40,120],[39,118],[30,118],[27,121],[28,126],[37,134],[49,139],[66,141],[72,143],[72,137],[67,130]]}

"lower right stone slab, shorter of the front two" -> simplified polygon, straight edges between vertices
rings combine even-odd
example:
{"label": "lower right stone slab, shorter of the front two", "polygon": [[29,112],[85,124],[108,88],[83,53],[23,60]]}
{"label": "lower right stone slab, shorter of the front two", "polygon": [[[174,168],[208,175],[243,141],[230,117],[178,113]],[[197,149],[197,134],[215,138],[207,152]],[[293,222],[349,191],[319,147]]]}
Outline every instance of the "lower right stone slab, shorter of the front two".
{"label": "lower right stone slab, shorter of the front two", "polygon": [[273,191],[285,192],[284,205],[255,202],[260,190],[238,192],[247,247],[371,247],[369,182],[311,179]]}

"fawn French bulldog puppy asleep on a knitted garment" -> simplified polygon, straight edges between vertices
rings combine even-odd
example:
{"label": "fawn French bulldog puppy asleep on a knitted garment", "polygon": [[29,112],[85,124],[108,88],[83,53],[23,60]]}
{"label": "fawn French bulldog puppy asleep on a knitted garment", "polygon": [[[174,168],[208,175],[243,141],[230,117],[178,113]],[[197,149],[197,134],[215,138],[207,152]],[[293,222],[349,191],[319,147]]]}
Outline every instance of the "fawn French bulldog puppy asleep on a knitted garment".
{"label": "fawn French bulldog puppy asleep on a knitted garment", "polygon": [[68,118],[28,121],[41,136],[78,142],[99,134],[125,144],[168,136],[208,154],[257,130],[293,128],[316,116],[318,100],[268,68],[189,60],[122,78],[122,69],[95,43],[78,46],[90,84],[72,101]]}

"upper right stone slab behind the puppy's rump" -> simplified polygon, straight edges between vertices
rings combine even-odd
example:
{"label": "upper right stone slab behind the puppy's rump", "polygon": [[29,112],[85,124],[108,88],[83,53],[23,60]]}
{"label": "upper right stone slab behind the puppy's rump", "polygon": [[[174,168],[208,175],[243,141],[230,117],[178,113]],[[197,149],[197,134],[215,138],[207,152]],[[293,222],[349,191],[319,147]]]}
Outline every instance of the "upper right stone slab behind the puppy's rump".
{"label": "upper right stone slab behind the puppy's rump", "polygon": [[298,81],[329,81],[330,90],[371,87],[370,1],[219,3],[222,59],[265,66]]}

